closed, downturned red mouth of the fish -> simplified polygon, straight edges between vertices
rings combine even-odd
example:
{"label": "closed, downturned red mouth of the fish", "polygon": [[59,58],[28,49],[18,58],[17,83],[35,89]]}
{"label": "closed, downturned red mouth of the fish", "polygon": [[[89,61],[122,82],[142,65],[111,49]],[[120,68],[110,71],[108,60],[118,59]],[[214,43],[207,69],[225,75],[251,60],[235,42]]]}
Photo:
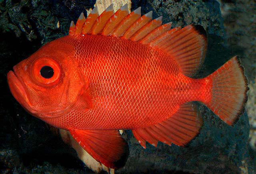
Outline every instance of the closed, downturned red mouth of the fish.
{"label": "closed, downturned red mouth of the fish", "polygon": [[7,81],[10,91],[14,98],[26,109],[30,108],[30,101],[24,87],[24,83],[19,79],[19,77],[14,71],[9,71],[7,74]]}

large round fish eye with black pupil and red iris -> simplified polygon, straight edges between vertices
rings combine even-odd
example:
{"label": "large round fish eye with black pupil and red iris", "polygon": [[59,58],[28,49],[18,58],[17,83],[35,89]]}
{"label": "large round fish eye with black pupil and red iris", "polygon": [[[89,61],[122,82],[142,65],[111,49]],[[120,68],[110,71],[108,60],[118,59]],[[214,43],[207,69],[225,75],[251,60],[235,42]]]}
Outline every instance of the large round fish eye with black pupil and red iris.
{"label": "large round fish eye with black pupil and red iris", "polygon": [[54,59],[40,57],[32,63],[31,73],[35,83],[44,87],[51,87],[60,81],[61,68]]}

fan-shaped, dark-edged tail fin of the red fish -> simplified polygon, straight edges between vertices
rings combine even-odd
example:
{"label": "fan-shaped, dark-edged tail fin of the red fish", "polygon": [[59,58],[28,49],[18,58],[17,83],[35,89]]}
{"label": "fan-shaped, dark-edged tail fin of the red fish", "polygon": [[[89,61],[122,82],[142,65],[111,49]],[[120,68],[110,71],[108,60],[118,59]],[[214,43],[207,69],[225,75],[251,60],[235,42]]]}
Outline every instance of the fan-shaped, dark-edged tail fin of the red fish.
{"label": "fan-shaped, dark-edged tail fin of the red fish", "polygon": [[207,78],[212,79],[212,100],[206,103],[228,125],[244,112],[248,81],[237,56],[227,61]]}

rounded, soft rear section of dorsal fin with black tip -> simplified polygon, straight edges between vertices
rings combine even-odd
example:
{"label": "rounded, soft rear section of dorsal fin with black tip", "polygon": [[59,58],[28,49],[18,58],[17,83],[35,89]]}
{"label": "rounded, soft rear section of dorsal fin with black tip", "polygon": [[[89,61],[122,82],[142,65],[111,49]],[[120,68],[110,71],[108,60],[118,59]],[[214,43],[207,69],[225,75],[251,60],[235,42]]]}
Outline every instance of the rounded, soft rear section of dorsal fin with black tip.
{"label": "rounded, soft rear section of dorsal fin with black tip", "polygon": [[[206,31],[200,25],[174,29],[166,32],[169,37],[160,42],[157,38],[151,46],[171,55],[180,65],[182,72],[191,77],[204,62],[207,51]],[[159,43],[156,44],[156,41]]]}

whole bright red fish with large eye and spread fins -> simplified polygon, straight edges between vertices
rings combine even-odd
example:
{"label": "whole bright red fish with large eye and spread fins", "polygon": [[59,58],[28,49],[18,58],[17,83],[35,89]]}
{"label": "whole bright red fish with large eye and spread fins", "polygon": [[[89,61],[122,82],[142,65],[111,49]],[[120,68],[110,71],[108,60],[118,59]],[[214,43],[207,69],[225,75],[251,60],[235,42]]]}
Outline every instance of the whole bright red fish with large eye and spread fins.
{"label": "whole bright red fish with large eye and spread fins", "polygon": [[66,130],[108,168],[125,165],[132,130],[146,142],[185,146],[203,125],[200,102],[224,123],[244,112],[248,81],[238,56],[212,74],[193,78],[206,57],[200,25],[171,28],[152,11],[128,5],[71,22],[68,36],[46,43],[7,74],[14,98],[34,117]]}

